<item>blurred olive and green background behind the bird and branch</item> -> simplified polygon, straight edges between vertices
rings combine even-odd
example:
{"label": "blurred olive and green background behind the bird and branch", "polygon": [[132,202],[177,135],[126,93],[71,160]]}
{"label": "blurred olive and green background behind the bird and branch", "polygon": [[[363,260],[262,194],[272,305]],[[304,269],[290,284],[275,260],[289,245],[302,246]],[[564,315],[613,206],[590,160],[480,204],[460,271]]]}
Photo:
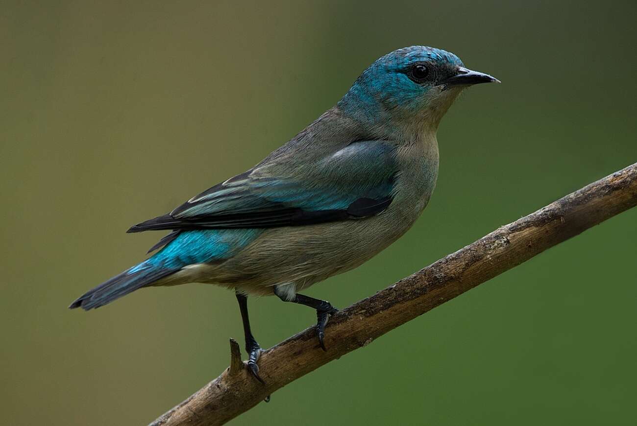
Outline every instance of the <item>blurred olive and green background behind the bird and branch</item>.
{"label": "blurred olive and green background behind the bird and branch", "polygon": [[[228,364],[234,295],[66,306],[143,259],[129,225],[240,173],[376,57],[424,44],[501,85],[441,124],[412,231],[309,295],[345,307],[637,161],[634,1],[3,2],[0,406],[6,425],[143,424]],[[297,380],[236,425],[634,424],[637,209]],[[250,304],[269,347],[313,314]]]}

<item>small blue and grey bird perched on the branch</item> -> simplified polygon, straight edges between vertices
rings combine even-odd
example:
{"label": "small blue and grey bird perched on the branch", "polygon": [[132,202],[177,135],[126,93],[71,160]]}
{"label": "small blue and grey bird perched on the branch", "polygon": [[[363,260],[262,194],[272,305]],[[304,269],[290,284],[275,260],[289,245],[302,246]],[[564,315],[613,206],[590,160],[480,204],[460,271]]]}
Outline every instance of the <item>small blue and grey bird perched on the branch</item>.
{"label": "small blue and grey bird perched on the branch", "polygon": [[371,259],[402,236],[438,176],[440,120],[462,89],[498,82],[453,53],[425,46],[376,60],[326,113],[244,173],[128,232],[170,230],[137,266],[69,308],[99,308],[141,287],[213,283],[239,302],[248,367],[261,348],[248,295],[276,295],[317,312],[318,343],[336,313],[301,290]]}

